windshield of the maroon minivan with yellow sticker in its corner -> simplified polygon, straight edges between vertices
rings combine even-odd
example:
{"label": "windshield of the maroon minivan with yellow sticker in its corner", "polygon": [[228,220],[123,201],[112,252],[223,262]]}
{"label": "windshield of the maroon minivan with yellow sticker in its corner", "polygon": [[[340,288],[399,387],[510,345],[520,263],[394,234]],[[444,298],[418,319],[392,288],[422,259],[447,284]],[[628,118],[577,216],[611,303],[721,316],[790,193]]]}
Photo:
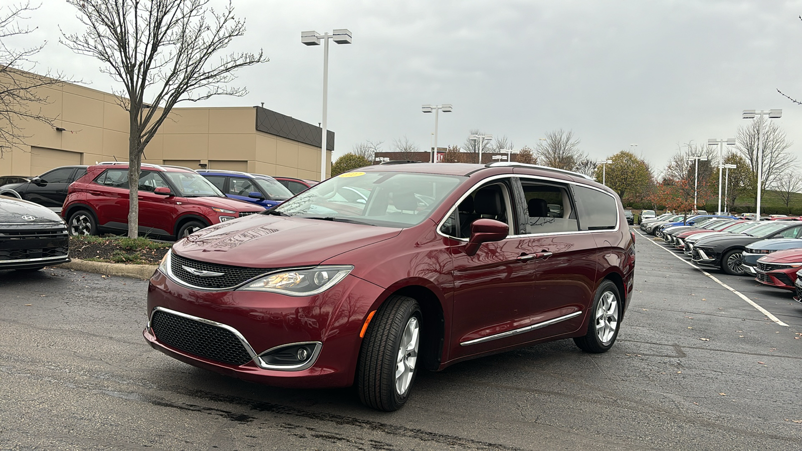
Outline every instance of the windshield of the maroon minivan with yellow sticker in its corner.
{"label": "windshield of the maroon minivan with yellow sticker in its corner", "polygon": [[342,173],[273,210],[288,216],[408,227],[423,222],[464,180],[422,173]]}

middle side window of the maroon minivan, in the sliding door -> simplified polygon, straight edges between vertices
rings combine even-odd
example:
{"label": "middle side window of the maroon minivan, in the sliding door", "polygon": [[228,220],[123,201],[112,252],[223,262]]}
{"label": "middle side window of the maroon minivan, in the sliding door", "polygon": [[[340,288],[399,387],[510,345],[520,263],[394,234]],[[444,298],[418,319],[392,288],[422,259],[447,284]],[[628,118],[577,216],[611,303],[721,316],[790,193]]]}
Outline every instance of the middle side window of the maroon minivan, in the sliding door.
{"label": "middle side window of the maroon minivan, in the sliding door", "polygon": [[529,214],[527,234],[553,234],[579,230],[568,189],[526,180],[521,180],[520,185],[524,189],[526,209]]}

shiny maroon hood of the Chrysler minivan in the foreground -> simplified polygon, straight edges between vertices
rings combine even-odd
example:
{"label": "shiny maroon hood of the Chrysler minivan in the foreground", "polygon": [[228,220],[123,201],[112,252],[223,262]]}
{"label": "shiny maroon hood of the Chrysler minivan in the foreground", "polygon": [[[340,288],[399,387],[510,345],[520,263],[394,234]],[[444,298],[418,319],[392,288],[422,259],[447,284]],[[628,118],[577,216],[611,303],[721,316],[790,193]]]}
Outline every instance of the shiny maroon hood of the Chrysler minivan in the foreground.
{"label": "shiny maroon hood of the Chrysler minivan in the foreground", "polygon": [[398,235],[401,229],[254,214],[213,225],[176,242],[176,254],[221,265],[314,266],[347,250]]}

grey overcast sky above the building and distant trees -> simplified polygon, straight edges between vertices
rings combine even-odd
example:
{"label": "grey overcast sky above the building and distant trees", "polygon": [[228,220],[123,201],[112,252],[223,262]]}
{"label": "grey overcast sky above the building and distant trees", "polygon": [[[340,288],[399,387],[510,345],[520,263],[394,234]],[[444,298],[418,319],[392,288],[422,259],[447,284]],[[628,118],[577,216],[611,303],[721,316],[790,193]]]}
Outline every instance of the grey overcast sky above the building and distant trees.
{"label": "grey overcast sky above the building and distant trees", "polygon": [[[64,71],[102,91],[119,84],[100,63],[59,44],[79,31],[75,10],[42,0],[30,39],[49,43],[39,68]],[[213,4],[221,2],[213,0]],[[662,169],[678,144],[734,137],[743,109],[782,108],[777,120],[802,160],[802,1],[233,0],[248,31],[237,51],[263,48],[269,63],[237,73],[243,98],[317,124],[322,46],[303,30],[347,28],[352,45],[330,47],[329,128],[335,157],[364,140],[407,136],[431,145],[434,116],[421,104],[453,104],[439,118],[440,147],[468,129],[534,147],[556,128],[602,159],[630,144]],[[31,42],[34,42],[31,41]],[[181,104],[180,106],[192,106]]]}

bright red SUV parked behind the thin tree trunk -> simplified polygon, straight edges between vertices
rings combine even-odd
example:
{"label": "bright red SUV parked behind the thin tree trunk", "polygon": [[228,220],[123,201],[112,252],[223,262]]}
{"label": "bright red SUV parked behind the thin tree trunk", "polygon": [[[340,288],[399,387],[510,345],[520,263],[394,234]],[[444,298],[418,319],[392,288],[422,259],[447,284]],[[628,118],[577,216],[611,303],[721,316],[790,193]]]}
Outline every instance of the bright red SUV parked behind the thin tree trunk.
{"label": "bright red SUV parked behind the thin tree trunk", "polygon": [[[73,182],[61,210],[72,235],[128,230],[128,164],[90,166]],[[181,238],[209,225],[265,209],[225,197],[192,169],[142,165],[140,175],[142,235]]]}

